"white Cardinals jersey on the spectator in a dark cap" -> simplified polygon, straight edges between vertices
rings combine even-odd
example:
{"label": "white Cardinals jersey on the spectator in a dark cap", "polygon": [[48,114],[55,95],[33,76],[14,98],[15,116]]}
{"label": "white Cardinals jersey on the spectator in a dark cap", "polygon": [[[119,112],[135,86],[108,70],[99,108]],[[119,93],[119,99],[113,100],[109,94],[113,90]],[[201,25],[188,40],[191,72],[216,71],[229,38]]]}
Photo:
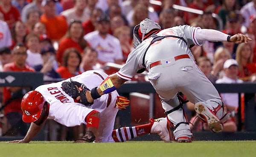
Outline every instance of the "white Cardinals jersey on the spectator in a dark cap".
{"label": "white Cardinals jersey on the spectator in a dark cap", "polygon": [[103,39],[99,31],[93,31],[84,36],[84,40],[90,43],[98,53],[98,59],[102,62],[115,63],[115,60],[122,60],[122,48],[119,40],[111,34]]}

